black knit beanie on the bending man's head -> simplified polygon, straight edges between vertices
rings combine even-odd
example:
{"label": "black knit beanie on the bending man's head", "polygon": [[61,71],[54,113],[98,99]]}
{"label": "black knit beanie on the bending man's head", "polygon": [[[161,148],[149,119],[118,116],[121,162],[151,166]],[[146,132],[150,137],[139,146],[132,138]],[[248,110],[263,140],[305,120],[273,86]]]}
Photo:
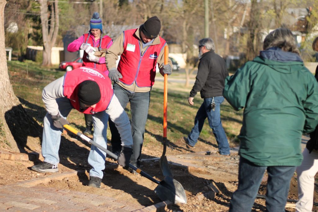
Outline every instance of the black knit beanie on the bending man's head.
{"label": "black knit beanie on the bending man's head", "polygon": [[79,84],[79,101],[87,106],[95,105],[100,101],[100,87],[95,81],[85,80]]}

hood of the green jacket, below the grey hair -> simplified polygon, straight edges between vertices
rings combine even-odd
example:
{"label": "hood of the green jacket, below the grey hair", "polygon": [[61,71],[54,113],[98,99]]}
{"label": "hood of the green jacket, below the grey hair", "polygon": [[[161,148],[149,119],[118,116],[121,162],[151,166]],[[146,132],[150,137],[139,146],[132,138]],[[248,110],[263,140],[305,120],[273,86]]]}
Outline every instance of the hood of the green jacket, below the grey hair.
{"label": "hood of the green jacket, below the grey hair", "polygon": [[282,51],[277,47],[260,51],[259,56],[254,58],[253,61],[287,74],[297,72],[304,67],[304,63],[298,54]]}

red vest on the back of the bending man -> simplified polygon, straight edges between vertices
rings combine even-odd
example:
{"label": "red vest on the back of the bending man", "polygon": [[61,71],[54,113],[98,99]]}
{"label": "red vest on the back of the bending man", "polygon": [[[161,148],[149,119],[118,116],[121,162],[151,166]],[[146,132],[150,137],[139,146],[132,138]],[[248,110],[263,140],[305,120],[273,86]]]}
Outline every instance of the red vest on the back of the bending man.
{"label": "red vest on the back of the bending man", "polygon": [[[96,107],[88,107],[85,111],[79,110],[78,85],[85,80],[93,80],[100,87],[101,98]],[[114,95],[112,83],[110,79],[97,69],[89,67],[79,67],[72,71],[66,72],[64,75],[63,94],[74,109],[81,113],[94,114],[107,109],[110,100]]]}

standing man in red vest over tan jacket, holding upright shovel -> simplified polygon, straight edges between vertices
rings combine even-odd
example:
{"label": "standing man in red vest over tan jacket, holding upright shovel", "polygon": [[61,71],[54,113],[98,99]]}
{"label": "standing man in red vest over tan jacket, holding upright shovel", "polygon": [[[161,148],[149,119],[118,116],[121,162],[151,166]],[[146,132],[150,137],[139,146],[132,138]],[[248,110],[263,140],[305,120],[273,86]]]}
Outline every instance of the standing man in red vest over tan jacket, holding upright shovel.
{"label": "standing man in red vest over tan jacket, holding upright shovel", "polygon": [[[150,90],[155,82],[157,63],[162,76],[171,74],[171,61],[164,65],[164,46],[167,44],[158,36],[160,28],[160,20],[156,16],[151,17],[138,29],[123,31],[106,53],[108,77],[114,81],[114,93],[123,108],[130,102],[134,142],[130,163],[136,167],[140,166]],[[116,68],[118,55],[121,58]],[[121,138],[113,123],[109,122],[109,128],[112,151],[119,154]]]}

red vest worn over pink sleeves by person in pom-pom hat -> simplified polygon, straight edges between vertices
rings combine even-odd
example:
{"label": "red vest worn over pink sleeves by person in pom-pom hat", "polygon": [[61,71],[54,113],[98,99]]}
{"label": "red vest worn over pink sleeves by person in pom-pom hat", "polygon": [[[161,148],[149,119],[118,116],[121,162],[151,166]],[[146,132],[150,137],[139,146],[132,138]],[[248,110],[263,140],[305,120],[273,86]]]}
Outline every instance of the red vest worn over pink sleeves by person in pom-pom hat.
{"label": "red vest worn over pink sleeves by person in pom-pom hat", "polygon": [[[93,47],[99,47],[100,46],[100,42],[97,43],[96,45],[96,42],[93,41],[93,38],[91,36],[89,36],[89,33],[86,33],[84,34],[84,42],[86,44],[91,44],[91,46]],[[87,39],[88,38],[88,39]],[[109,36],[105,35],[104,37],[101,38],[101,48],[102,49],[108,49],[110,47],[110,42],[112,41],[112,38],[110,38]],[[94,43],[95,43],[95,46],[94,46]],[[101,72],[105,72],[107,71],[107,67],[106,67],[106,64],[103,63],[103,64],[99,64],[99,63],[94,63],[92,61],[89,61],[87,58],[87,53],[84,51],[84,55],[83,55],[83,66],[86,66],[86,67],[92,67],[92,68],[96,68],[98,70],[100,70]]]}

